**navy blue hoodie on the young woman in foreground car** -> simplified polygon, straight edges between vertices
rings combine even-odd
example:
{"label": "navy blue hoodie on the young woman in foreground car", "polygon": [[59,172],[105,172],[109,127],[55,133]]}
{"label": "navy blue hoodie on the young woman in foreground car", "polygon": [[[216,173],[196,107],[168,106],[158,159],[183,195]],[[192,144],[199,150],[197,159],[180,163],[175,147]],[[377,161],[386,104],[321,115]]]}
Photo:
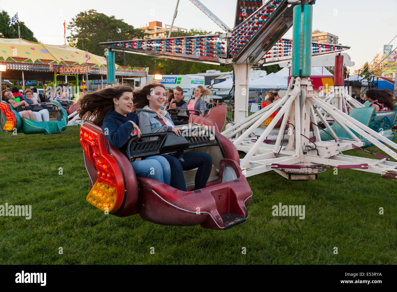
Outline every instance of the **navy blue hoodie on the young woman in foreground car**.
{"label": "navy blue hoodie on the young woman in foreground car", "polygon": [[134,125],[128,121],[133,121],[137,126],[139,126],[139,118],[137,114],[131,112],[125,117],[112,110],[104,118],[101,127],[103,133],[106,133],[107,130],[108,135],[104,135],[105,138],[113,147],[118,148],[122,153],[125,153],[125,146],[127,146],[126,144],[128,140],[135,135]]}

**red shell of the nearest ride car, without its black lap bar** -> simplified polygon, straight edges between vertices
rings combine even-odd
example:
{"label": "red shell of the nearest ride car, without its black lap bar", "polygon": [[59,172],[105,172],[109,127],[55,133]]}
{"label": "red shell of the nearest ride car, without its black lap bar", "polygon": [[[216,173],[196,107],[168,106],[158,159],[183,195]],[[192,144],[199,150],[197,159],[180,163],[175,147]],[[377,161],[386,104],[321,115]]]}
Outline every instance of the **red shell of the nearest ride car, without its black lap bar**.
{"label": "red shell of the nearest ride car, without its black lap bar", "polygon": [[[211,120],[192,116],[202,119],[200,123],[202,121],[208,126],[215,126]],[[251,202],[252,191],[241,172],[237,149],[233,143],[220,135],[217,127],[214,132],[224,148],[225,157],[220,160],[218,180],[208,183],[206,188],[188,191],[177,190],[152,178],[136,178],[131,162],[106,141],[98,126],[85,121],[80,129],[85,163],[91,164],[87,167],[87,171],[93,176],[92,166],[95,166],[98,177],[96,182],[94,182],[95,178],[90,178],[93,187],[87,196],[87,201],[98,209],[104,211],[103,204],[108,203],[98,197],[99,191],[102,191],[102,197],[104,195],[112,197],[115,203],[116,201],[119,203],[124,194],[123,201],[114,215],[120,216],[121,213],[127,216],[138,212],[143,219],[157,224],[177,226],[200,224],[204,228],[223,230],[247,219],[248,213],[245,207]],[[189,149],[192,150],[195,149]],[[105,168],[103,165],[106,165]],[[111,179],[107,179],[108,174],[113,174]],[[107,189],[115,188],[112,196],[109,195],[110,191],[105,193],[101,189],[104,186],[102,184],[106,184]],[[98,192],[94,193],[94,190]],[[124,190],[124,193],[121,192]],[[116,207],[112,209],[112,212],[114,211]],[[109,213],[112,212],[109,209]]]}

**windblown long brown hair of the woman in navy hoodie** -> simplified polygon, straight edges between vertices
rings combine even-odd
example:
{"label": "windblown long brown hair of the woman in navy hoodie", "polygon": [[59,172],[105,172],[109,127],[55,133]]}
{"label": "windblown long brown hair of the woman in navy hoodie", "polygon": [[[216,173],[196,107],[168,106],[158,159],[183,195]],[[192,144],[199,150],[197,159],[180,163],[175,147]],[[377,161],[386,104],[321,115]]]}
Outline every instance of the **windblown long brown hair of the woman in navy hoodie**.
{"label": "windblown long brown hair of the woman in navy hoodie", "polygon": [[115,87],[107,87],[99,89],[93,93],[87,93],[81,99],[79,116],[81,120],[92,120],[98,126],[102,126],[106,115],[114,110],[113,99],[120,99],[125,92],[133,92],[131,86],[118,85]]}

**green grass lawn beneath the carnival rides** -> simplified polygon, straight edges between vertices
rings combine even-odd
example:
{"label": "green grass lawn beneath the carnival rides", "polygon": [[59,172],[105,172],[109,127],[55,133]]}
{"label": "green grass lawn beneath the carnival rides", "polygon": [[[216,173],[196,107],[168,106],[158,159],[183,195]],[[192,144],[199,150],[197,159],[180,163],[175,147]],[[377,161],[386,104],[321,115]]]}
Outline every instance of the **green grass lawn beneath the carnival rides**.
{"label": "green grass lawn beneath the carnival rides", "polygon": [[[225,231],[94,208],[85,200],[78,127],[54,135],[0,132],[0,178],[0,205],[32,205],[33,213],[30,220],[0,217],[0,264],[397,264],[397,182],[379,174],[328,170],[309,182],[276,172],[250,177],[249,217]],[[305,205],[306,218],[273,217],[280,202]]]}

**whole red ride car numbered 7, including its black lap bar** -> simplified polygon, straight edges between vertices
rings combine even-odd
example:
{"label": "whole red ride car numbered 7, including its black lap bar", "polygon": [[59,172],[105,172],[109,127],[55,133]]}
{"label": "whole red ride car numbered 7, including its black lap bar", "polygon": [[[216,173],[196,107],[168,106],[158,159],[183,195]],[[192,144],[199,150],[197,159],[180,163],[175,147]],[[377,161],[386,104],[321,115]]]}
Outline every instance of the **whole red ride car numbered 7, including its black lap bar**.
{"label": "whole red ride car numbered 7, including its black lap bar", "polygon": [[[192,117],[212,131],[189,135],[189,131],[204,131],[190,125],[178,138],[173,132],[145,134],[141,139],[135,136],[129,141],[127,156],[110,145],[100,127],[85,121],[80,128],[80,142],[90,178],[87,201],[119,217],[139,213],[145,220],[164,225],[201,224],[203,228],[223,230],[244,222],[252,191],[241,172],[237,149],[219,133],[215,122],[191,114]],[[142,139],[153,136],[157,139]],[[189,191],[195,170],[185,172],[186,192],[152,178],[135,176],[129,159],[161,155],[170,149],[206,151],[212,155],[214,165],[206,188]]]}

